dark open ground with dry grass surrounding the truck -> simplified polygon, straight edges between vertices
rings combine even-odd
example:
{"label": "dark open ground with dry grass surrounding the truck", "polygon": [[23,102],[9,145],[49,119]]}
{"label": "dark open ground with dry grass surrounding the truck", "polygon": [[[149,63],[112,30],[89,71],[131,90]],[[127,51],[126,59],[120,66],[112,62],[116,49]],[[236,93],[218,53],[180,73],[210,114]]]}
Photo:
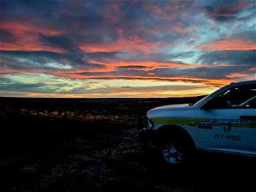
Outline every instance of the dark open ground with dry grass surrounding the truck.
{"label": "dark open ground with dry grass surrounding the truck", "polygon": [[173,169],[140,142],[140,112],[201,98],[1,97],[0,190],[255,191],[255,159],[200,153]]}

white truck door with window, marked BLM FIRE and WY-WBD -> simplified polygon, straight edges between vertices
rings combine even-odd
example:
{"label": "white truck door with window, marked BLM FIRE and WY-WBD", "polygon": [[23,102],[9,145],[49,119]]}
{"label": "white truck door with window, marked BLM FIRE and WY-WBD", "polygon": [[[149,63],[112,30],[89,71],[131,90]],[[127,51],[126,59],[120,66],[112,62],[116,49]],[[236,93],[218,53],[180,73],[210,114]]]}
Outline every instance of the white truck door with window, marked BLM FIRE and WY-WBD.
{"label": "white truck door with window, marked BLM FIRE and WY-WBD", "polygon": [[208,100],[196,115],[200,147],[256,154],[256,87],[236,86]]}

